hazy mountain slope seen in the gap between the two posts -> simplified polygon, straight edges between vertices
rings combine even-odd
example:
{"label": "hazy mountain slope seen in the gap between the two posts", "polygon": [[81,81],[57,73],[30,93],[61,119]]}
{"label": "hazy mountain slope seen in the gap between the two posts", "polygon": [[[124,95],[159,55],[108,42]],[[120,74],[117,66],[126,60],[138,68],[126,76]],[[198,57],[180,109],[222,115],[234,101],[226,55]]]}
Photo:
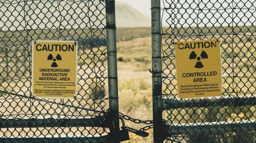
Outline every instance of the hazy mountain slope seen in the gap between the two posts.
{"label": "hazy mountain slope seen in the gap between the two posts", "polygon": [[151,20],[130,5],[116,2],[116,26],[150,27]]}

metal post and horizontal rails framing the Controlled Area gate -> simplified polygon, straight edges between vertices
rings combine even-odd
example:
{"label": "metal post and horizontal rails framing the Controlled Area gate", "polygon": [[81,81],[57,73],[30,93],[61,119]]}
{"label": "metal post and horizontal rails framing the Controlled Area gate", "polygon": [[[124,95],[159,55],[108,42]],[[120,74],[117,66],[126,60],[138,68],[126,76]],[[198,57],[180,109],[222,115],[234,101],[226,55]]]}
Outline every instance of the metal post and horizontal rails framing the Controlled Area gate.
{"label": "metal post and horizontal rails framing the Controlled Area gate", "polygon": [[[164,10],[164,9],[163,9]],[[185,134],[188,132],[234,132],[242,130],[248,132],[256,130],[256,120],[245,120],[246,122],[205,122],[205,125],[187,125],[176,127],[175,124],[167,127],[162,113],[165,110],[190,107],[213,107],[221,105],[222,107],[232,106],[255,106],[256,97],[218,97],[218,98],[188,98],[178,100],[177,98],[162,97],[162,33],[161,33],[161,1],[151,0],[151,35],[152,35],[152,91],[153,91],[153,138],[154,143],[163,143],[166,137],[176,134]],[[200,103],[204,104],[200,104]],[[178,125],[178,124],[177,124]],[[201,128],[203,127],[203,129]],[[213,131],[212,131],[213,130]],[[174,142],[179,142],[172,140]]]}

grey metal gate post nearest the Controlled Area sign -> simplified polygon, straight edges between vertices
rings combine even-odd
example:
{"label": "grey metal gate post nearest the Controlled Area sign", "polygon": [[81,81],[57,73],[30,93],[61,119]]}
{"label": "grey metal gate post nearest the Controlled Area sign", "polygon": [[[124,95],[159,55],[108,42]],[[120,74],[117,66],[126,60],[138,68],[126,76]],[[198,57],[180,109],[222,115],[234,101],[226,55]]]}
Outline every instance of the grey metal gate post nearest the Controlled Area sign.
{"label": "grey metal gate post nearest the Controlled Area sign", "polygon": [[162,139],[162,57],[161,57],[161,14],[160,0],[151,0],[152,32],[152,90],[154,143],[163,143]]}

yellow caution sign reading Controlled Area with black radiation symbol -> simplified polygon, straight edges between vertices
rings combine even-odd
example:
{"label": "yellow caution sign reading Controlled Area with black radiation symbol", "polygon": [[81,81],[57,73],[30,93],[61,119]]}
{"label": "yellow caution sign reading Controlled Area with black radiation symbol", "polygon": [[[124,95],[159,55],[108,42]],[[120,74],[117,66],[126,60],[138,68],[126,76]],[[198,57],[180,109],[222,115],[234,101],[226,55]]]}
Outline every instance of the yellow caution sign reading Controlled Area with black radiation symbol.
{"label": "yellow caution sign reading Controlled Area with black radiation symbol", "polygon": [[175,45],[178,97],[222,95],[220,42],[182,41]]}

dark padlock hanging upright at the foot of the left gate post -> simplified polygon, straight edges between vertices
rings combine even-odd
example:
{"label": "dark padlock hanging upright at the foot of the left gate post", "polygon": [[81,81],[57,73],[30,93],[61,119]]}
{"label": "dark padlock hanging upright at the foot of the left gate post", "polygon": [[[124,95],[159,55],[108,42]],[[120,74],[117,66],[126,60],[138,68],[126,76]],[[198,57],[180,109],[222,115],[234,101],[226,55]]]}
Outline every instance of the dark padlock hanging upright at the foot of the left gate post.
{"label": "dark padlock hanging upright at the foot of the left gate post", "polygon": [[[120,118],[120,119],[122,121],[122,127],[121,127],[122,130],[116,130],[113,132],[114,140],[119,141],[119,142],[127,141],[130,139],[129,132],[127,129],[125,129],[125,123],[124,123],[123,118]],[[114,126],[114,121],[113,121],[113,126]],[[115,129],[115,127],[114,127],[114,129]]]}

